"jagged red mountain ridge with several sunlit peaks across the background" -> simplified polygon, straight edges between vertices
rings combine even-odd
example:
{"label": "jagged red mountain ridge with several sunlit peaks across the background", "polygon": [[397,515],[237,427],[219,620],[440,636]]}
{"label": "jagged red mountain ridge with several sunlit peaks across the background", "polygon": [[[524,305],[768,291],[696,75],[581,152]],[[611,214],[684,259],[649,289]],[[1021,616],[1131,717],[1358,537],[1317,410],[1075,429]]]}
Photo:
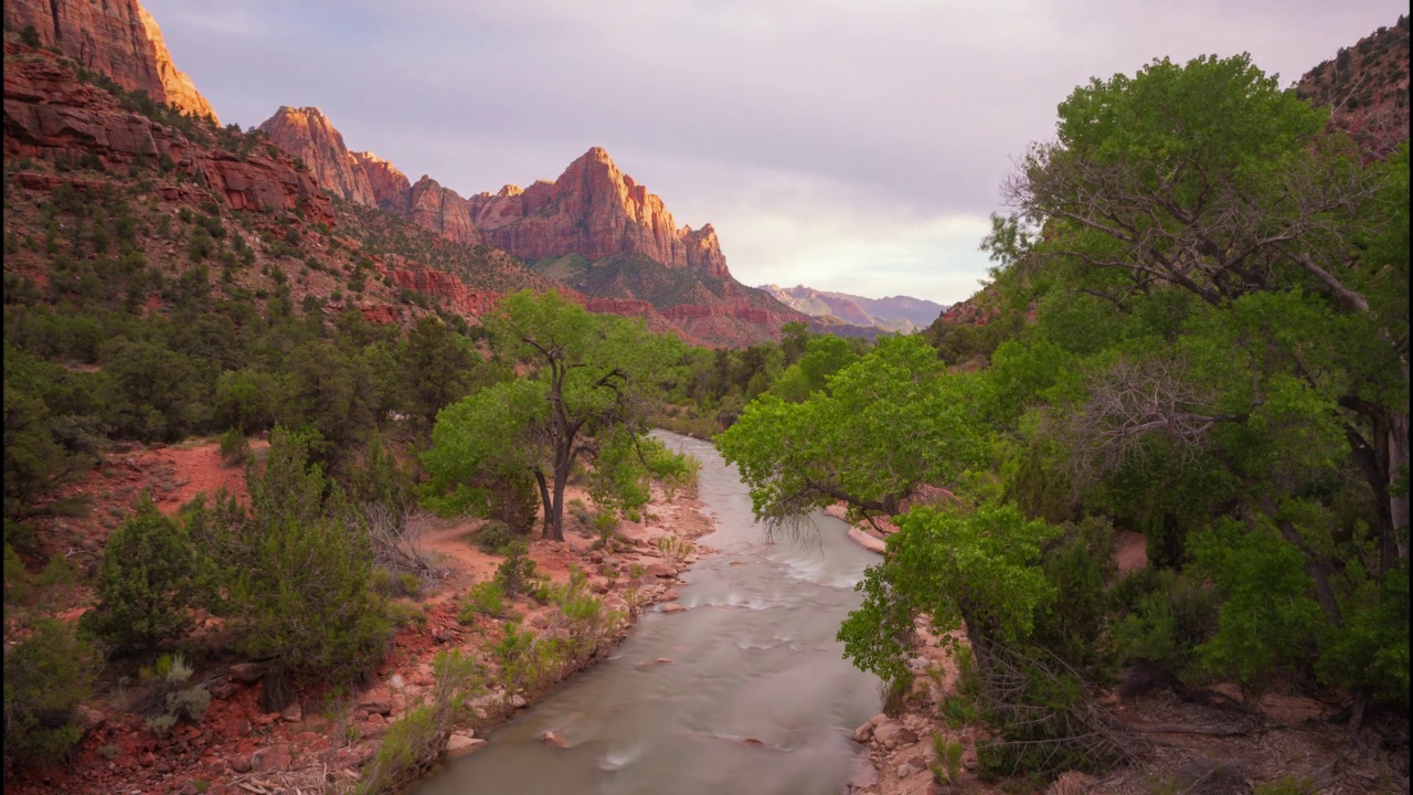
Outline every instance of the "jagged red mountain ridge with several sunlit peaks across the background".
{"label": "jagged red mountain ridge with several sunlit peaks across the background", "polygon": [[643,317],[654,328],[712,345],[773,340],[786,323],[807,320],[736,282],[711,224],[678,226],[663,199],[620,171],[601,147],[591,147],[555,180],[462,198],[430,175],[410,182],[376,154],[349,151],[318,108],[280,108],[260,129],[333,195],[448,240],[520,257],[582,294],[592,311]]}

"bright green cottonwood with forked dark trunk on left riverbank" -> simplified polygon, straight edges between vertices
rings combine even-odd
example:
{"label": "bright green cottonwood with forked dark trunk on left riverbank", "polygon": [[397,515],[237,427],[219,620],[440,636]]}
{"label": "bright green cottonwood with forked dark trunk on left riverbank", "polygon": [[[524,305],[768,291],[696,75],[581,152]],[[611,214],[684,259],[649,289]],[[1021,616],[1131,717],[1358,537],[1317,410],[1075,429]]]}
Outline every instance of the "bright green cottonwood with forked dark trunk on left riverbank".
{"label": "bright green cottonwood with forked dark trunk on left riverbank", "polygon": [[639,475],[680,467],[677,457],[649,453],[644,439],[658,385],[682,358],[677,340],[591,314],[558,293],[509,296],[486,324],[497,349],[528,373],[438,414],[424,455],[434,502],[485,508],[487,484],[533,477],[543,535],[564,540],[564,489],[577,464],[620,446],[636,451]]}

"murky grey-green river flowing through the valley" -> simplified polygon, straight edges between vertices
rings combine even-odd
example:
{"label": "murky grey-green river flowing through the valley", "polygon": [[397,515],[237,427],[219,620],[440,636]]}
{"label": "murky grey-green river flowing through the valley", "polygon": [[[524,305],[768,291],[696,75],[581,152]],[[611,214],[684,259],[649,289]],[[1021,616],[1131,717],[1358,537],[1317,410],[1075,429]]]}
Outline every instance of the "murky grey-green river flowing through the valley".
{"label": "murky grey-green river flowing through the valley", "polygon": [[[877,557],[815,516],[803,543],[766,543],[735,467],[705,441],[656,431],[701,460],[719,555],[682,573],[685,613],[639,618],[615,654],[497,729],[417,795],[835,795],[879,712],[877,679],[834,639]],[[735,566],[732,563],[736,563]],[[654,663],[668,658],[671,663]],[[568,748],[538,741],[554,731]],[[745,740],[762,744],[747,744]]]}

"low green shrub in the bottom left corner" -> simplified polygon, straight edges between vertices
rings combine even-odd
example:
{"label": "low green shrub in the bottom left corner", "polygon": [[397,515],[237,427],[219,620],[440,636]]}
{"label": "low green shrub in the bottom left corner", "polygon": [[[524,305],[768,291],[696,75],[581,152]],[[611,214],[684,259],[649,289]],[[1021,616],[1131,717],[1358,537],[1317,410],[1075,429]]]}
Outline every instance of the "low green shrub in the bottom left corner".
{"label": "low green shrub in the bottom left corner", "polygon": [[97,672],[93,649],[72,628],[40,618],[4,649],[6,765],[65,758],[83,736],[73,710],[89,696]]}

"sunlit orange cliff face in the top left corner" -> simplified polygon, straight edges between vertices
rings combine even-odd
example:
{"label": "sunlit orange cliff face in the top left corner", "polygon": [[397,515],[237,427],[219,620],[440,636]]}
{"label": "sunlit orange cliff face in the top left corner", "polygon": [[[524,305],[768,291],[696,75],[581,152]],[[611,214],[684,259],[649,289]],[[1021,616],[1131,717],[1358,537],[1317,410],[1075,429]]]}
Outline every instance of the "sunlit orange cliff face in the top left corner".
{"label": "sunlit orange cliff face in the top left corner", "polygon": [[191,78],[172,65],[161,30],[137,0],[13,0],[4,16],[14,30],[34,25],[42,47],[58,48],[127,91],[216,117]]}

